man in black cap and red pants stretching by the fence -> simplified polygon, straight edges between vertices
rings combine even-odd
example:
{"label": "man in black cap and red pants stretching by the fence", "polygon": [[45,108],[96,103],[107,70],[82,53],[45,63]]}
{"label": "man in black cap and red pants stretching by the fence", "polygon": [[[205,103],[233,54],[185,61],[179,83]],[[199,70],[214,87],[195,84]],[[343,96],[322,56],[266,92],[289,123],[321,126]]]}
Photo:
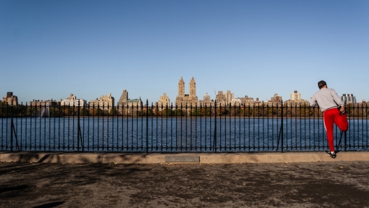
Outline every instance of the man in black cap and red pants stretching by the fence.
{"label": "man in black cap and red pants stretching by the fence", "polygon": [[326,154],[335,158],[335,150],[333,144],[333,124],[337,125],[342,132],[346,132],[349,128],[347,122],[345,104],[341,101],[340,96],[334,89],[328,88],[326,82],[321,80],[318,82],[319,91],[317,91],[310,99],[310,106],[317,106],[323,112],[323,122],[326,128],[329,150]]}

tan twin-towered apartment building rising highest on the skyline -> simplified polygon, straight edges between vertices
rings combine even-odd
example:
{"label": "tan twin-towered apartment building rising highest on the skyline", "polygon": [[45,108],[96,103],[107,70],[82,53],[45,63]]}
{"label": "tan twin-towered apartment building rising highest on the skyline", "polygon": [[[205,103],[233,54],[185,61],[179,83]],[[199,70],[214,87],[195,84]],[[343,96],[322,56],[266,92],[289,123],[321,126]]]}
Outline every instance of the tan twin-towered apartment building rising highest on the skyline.
{"label": "tan twin-towered apartment building rising highest on the skyline", "polygon": [[177,107],[195,107],[198,104],[198,98],[196,96],[196,82],[194,77],[189,81],[189,94],[184,94],[184,81],[182,76],[178,82],[178,96],[175,98],[175,105]]}

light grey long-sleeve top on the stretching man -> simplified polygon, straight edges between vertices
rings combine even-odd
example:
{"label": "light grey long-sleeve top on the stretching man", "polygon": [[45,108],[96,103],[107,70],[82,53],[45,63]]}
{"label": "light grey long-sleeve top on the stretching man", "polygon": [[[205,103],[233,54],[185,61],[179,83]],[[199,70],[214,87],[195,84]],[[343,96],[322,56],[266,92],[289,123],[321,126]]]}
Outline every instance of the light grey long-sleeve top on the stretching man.
{"label": "light grey long-sleeve top on the stretching man", "polygon": [[317,105],[319,105],[321,112],[324,112],[324,110],[329,108],[338,107],[338,105],[343,106],[345,104],[342,102],[340,96],[338,96],[334,89],[322,88],[310,99],[310,106]]}

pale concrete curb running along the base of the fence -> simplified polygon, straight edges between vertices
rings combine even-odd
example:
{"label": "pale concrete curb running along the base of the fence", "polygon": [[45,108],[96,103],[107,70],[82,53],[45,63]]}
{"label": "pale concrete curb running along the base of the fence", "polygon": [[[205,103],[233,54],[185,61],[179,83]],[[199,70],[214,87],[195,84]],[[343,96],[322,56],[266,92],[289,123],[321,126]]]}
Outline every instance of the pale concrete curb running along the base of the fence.
{"label": "pale concrete curb running along the base of the fence", "polygon": [[[196,158],[199,158],[196,159]],[[339,152],[333,159],[324,152],[287,153],[78,153],[0,152],[0,162],[29,163],[307,163],[369,161],[368,151]]]}

